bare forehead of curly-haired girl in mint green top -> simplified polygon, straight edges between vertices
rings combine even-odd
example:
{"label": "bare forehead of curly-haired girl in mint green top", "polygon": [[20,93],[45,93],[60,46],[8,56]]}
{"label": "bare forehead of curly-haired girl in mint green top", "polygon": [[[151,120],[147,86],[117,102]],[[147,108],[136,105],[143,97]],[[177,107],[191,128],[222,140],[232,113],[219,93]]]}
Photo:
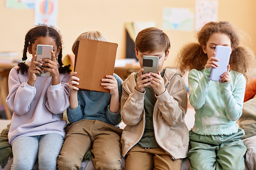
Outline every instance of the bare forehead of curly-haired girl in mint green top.
{"label": "bare forehead of curly-haired girl in mint green top", "polygon": [[231,40],[227,36],[227,34],[223,33],[213,33],[210,37],[209,40],[207,41],[207,44],[215,44],[215,45],[230,45]]}

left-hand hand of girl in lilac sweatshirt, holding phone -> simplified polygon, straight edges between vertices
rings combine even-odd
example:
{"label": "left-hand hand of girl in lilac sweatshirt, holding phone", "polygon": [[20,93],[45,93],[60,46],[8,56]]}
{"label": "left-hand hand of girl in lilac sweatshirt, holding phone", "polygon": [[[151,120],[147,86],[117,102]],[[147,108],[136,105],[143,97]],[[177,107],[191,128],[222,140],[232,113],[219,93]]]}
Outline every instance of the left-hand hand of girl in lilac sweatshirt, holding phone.
{"label": "left-hand hand of girl in lilac sweatshirt, holding phone", "polygon": [[36,55],[34,55],[31,59],[31,64],[29,65],[29,79],[27,81],[28,85],[34,86],[35,80],[37,76],[36,73],[40,74],[40,71],[43,71],[41,68],[39,68],[37,65],[42,65],[41,62],[35,61]]}

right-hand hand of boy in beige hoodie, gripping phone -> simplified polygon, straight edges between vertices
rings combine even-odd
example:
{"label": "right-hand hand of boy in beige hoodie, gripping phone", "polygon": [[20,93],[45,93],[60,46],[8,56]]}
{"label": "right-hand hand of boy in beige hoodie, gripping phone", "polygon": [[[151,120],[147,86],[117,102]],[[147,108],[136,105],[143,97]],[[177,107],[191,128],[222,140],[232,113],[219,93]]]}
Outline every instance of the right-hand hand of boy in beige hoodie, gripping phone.
{"label": "right-hand hand of boy in beige hoodie, gripping phone", "polygon": [[150,73],[151,75],[149,78],[152,78],[151,87],[153,88],[154,92],[159,96],[160,94],[163,94],[165,92],[164,87],[164,80],[163,77],[161,77],[160,72],[158,71],[158,74]]}

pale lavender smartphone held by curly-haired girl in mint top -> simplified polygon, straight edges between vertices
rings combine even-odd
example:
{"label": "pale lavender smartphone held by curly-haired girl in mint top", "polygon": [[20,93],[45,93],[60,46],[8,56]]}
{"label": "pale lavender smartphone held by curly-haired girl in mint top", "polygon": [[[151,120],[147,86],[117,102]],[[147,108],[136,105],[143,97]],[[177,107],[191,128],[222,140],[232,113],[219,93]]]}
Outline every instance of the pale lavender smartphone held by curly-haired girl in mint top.
{"label": "pale lavender smartphone held by curly-haired girl in mint top", "polygon": [[217,45],[215,48],[215,56],[219,59],[217,64],[219,65],[217,68],[212,68],[210,79],[212,81],[220,81],[221,74],[227,71],[227,65],[229,63],[231,54],[231,48],[226,46]]}

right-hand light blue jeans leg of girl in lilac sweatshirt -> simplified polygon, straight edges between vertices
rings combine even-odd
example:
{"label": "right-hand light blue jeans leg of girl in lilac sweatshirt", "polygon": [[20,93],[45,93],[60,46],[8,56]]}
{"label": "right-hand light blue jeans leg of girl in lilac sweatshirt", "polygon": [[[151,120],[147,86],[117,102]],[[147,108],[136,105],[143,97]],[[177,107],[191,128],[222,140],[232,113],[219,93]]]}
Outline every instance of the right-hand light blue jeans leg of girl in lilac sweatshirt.
{"label": "right-hand light blue jeans leg of girl in lilac sweatshirt", "polygon": [[58,133],[42,135],[39,139],[38,166],[40,170],[56,170],[57,157],[64,142]]}

